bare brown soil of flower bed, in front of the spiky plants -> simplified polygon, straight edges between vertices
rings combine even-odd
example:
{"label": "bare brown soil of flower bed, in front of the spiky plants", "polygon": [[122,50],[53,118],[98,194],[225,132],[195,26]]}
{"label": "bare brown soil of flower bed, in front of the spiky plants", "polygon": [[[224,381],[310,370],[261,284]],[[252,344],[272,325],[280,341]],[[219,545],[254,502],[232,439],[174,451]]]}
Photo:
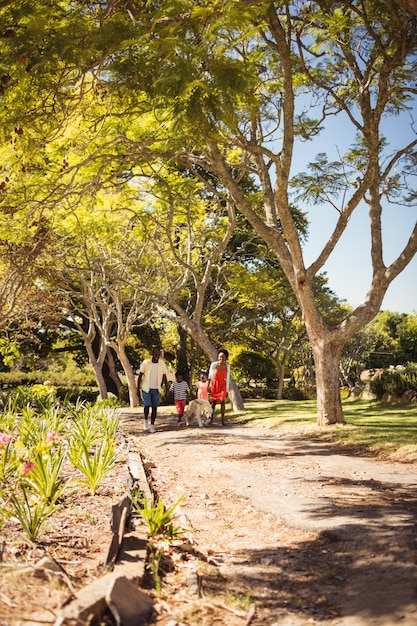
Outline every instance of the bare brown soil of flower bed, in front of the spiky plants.
{"label": "bare brown soil of flower bed, in front of the spiky plants", "polygon": [[64,492],[36,543],[17,519],[6,520],[0,531],[0,626],[54,624],[62,605],[104,573],[111,505],[125,493],[123,465],[94,496],[74,486]]}

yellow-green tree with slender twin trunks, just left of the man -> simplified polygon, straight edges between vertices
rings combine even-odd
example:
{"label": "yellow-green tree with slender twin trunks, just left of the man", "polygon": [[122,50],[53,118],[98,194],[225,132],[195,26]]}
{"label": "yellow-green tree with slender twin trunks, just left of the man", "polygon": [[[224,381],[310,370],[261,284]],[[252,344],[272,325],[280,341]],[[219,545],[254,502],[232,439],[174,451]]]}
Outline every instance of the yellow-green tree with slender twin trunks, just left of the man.
{"label": "yellow-green tree with slender twin trunks, just left of the man", "polygon": [[[123,206],[124,199],[123,194],[96,194],[89,211],[80,204],[72,219],[67,216],[56,224],[62,248],[50,288],[66,299],[66,315],[83,337],[101,398],[107,397],[103,368],[107,363],[114,369],[113,351],[126,376],[130,406],[135,407],[135,375],[126,346],[133,328],[148,324],[151,317],[149,300],[137,288],[138,265],[153,280],[156,274],[138,214]],[[114,211],[108,210],[112,203]],[[139,202],[138,213],[140,207]],[[57,217],[59,222],[59,213]]]}

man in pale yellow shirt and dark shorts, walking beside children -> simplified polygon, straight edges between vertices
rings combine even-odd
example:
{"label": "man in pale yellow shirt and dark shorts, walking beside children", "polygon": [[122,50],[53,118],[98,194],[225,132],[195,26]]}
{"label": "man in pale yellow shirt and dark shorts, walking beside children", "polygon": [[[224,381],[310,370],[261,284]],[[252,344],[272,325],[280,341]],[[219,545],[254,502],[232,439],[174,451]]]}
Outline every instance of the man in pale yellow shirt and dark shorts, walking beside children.
{"label": "man in pale yellow shirt and dark shorts, walking beside children", "polygon": [[[154,348],[152,351],[152,358],[145,359],[139,369],[138,378],[138,395],[142,387],[142,400],[143,400],[143,430],[154,433],[155,432],[155,420],[156,411],[161,403],[161,389],[162,385],[165,387],[165,392],[168,394],[168,378],[167,367],[165,362],[161,359],[160,348]],[[148,424],[149,409],[151,409],[151,425]]]}

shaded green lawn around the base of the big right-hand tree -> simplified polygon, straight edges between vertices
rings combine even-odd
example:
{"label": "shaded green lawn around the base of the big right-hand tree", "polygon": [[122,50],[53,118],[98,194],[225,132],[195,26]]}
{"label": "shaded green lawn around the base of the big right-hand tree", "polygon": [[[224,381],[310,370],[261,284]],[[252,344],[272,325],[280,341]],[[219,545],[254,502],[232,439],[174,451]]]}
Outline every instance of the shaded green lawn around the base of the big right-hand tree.
{"label": "shaded green lawn around the base of the big right-hand tree", "polygon": [[247,400],[237,422],[261,422],[268,428],[305,425],[307,432],[326,441],[340,442],[362,452],[417,461],[417,406],[377,401],[343,400],[346,424],[318,427],[316,403],[306,401]]}

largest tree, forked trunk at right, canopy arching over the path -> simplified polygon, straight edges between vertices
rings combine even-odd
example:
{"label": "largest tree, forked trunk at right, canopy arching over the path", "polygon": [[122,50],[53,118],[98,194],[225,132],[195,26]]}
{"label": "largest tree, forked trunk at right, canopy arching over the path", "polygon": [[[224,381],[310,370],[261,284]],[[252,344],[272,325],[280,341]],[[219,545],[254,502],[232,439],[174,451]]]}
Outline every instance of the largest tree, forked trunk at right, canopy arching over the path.
{"label": "largest tree, forked trunk at right, canopy arching over the path", "polygon": [[[28,6],[19,4],[21,13],[33,9]],[[376,315],[389,284],[417,250],[416,225],[397,258],[384,262],[383,212],[395,203],[415,206],[417,199],[412,120],[402,145],[398,137],[390,145],[383,133],[389,133],[384,120],[405,115],[416,95],[416,16],[392,0],[169,1],[140,8],[121,2],[75,9],[60,3],[52,13],[49,3],[42,3],[51,35],[45,37],[33,11],[30,20],[21,21],[14,11],[8,18],[19,28],[6,38],[13,45],[4,46],[2,57],[4,63],[14,61],[5,89],[7,104],[16,104],[13,123],[30,117],[27,102],[23,106],[16,95],[24,85],[35,88],[37,103],[46,94],[43,102],[59,104],[61,120],[68,114],[64,104],[80,101],[90,89],[106,99],[112,126],[106,141],[98,133],[89,148],[88,163],[94,160],[99,172],[91,186],[120,181],[146,160],[175,164],[197,180],[202,171],[210,173],[228,206],[245,216],[275,254],[294,291],[315,360],[318,423],[343,422],[342,349]],[[54,20],[60,20],[60,29],[52,28]],[[68,46],[74,35],[79,48],[73,41]],[[88,51],[83,41],[89,42]],[[76,91],[83,74],[89,80]],[[29,110],[33,118],[34,109]],[[102,113],[95,122],[94,110],[85,113],[98,128]],[[319,153],[307,172],[294,176],[303,142],[314,142],[332,116],[351,126],[352,145],[337,159]],[[44,124],[53,126],[49,120]],[[69,164],[66,189],[74,186],[79,167]],[[258,185],[256,197],[240,184],[245,175]],[[62,184],[57,189],[62,191]],[[50,206],[51,198],[44,197]],[[333,232],[309,266],[291,210],[294,198],[299,205],[334,208]],[[334,321],[320,310],[314,280],[363,204],[369,212],[372,280],[363,303]],[[168,304],[194,332],[178,302],[177,309]]]}

